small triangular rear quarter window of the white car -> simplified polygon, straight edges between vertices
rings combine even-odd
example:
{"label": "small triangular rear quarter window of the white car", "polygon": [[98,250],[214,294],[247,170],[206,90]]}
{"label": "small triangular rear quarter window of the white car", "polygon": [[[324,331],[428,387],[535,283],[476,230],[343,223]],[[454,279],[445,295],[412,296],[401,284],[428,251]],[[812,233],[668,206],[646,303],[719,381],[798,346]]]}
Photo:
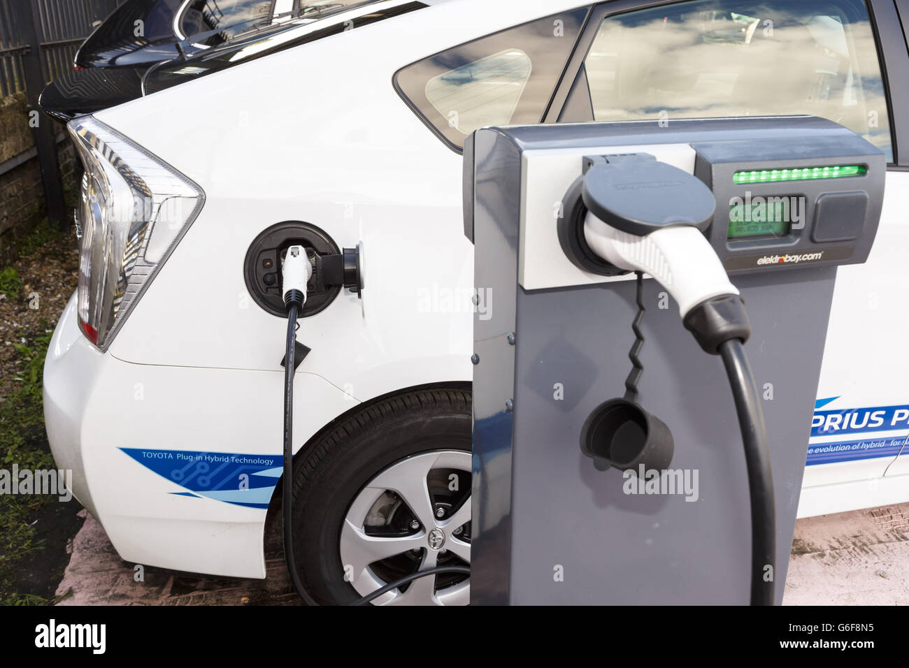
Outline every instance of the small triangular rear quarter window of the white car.
{"label": "small triangular rear quarter window of the white car", "polygon": [[454,46],[399,70],[395,86],[458,150],[484,125],[540,123],[586,15],[584,7]]}

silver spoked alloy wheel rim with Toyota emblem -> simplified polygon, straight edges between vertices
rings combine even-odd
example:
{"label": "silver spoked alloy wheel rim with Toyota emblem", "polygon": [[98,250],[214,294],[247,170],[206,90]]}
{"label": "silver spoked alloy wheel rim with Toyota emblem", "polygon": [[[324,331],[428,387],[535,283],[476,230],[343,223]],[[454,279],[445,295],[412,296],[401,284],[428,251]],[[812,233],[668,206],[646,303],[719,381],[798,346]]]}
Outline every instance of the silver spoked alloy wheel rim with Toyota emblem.
{"label": "silver spoked alloy wheel rim with Toyota emblem", "polygon": [[[442,450],[407,457],[366,484],[347,511],[339,545],[345,580],[357,593],[437,565],[470,565],[470,471],[470,453]],[[373,603],[469,601],[469,577],[436,574]]]}

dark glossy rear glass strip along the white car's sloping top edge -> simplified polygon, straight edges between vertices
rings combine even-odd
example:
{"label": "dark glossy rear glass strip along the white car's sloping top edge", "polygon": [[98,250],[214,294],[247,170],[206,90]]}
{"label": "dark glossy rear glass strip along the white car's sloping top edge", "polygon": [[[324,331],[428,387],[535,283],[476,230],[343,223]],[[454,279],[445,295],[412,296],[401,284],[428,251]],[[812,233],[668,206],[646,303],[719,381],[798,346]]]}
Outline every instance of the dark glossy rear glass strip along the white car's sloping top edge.
{"label": "dark glossy rear glass strip along the white car's sloping top edge", "polygon": [[[376,5],[375,10],[356,16],[354,27],[369,25],[393,16],[407,14],[426,5],[421,2],[395,2],[394,0],[361,0],[360,2],[325,5],[321,13],[304,12],[303,15],[285,24],[266,25],[253,31],[236,35],[225,45],[205,49],[184,59],[166,61],[152,65],[143,77],[143,93],[150,95],[159,90],[183,84],[199,76],[219,72],[234,65],[248,63],[256,58],[278,51],[304,45],[328,35],[342,33],[350,28],[351,22],[323,21],[326,15],[335,15],[362,5]],[[315,3],[308,3],[315,5]]]}

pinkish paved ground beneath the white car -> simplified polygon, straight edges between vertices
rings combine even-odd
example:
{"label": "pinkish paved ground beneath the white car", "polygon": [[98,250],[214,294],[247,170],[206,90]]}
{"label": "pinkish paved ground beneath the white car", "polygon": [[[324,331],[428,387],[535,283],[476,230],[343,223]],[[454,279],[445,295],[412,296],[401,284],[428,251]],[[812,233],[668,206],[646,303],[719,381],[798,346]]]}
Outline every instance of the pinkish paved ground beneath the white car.
{"label": "pinkish paved ground beneath the white car", "polygon": [[[243,580],[125,563],[94,517],[72,543],[58,605],[294,605],[280,525],[265,528],[265,580]],[[275,513],[276,514],[276,513]],[[795,523],[784,605],[909,604],[909,503],[806,517]]]}

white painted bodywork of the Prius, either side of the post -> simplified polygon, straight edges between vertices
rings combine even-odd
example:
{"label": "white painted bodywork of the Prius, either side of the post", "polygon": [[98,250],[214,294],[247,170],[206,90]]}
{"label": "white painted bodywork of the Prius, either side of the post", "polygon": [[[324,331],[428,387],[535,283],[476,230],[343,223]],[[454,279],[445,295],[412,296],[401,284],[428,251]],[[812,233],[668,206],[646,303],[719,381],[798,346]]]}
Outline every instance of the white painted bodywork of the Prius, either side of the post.
{"label": "white painted bodywork of the Prius, either side of the post", "polygon": [[[265,576],[265,508],[188,498],[121,450],[281,453],[285,321],[255,304],[243,277],[249,244],[265,227],[305,221],[339,246],[364,244],[362,304],[345,292],[301,322],[298,339],[312,353],[296,375],[295,449],[360,402],[471,380],[462,158],[405,105],[392,77],[449,46],[579,5],[433,5],[96,115],[205,191],[201,214],[108,352],[79,332],[71,301],[47,355],[57,464],[74,469],[77,498],[125,560]],[[818,391],[839,396],[836,405],[909,403],[903,369],[890,364],[907,324],[909,279],[896,275],[909,247],[907,178],[888,174],[868,264],[839,270]],[[865,306],[869,291],[880,295],[877,308]],[[900,482],[909,480],[909,456],[894,459],[808,466],[800,514],[909,499]]]}

